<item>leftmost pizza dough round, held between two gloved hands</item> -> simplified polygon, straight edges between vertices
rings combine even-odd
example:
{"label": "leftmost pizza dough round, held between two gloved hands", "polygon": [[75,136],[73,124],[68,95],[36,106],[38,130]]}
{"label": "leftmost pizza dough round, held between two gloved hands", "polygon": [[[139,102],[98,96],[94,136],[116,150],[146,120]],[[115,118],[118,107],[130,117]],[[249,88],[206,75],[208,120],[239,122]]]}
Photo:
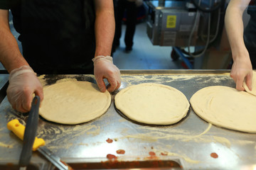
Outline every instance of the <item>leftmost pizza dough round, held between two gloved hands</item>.
{"label": "leftmost pizza dough round, held between two gloved hands", "polygon": [[75,125],[100,117],[110,107],[108,91],[87,81],[63,81],[46,86],[39,114],[46,120]]}

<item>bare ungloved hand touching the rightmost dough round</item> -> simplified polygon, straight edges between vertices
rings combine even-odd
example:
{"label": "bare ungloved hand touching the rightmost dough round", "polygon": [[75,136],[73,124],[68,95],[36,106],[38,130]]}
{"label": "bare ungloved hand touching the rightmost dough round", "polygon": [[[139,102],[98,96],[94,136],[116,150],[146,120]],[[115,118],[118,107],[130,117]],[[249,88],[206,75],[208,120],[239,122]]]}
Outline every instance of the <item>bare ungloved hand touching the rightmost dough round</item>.
{"label": "bare ungloved hand touching the rightmost dough round", "polygon": [[250,59],[242,60],[237,59],[232,66],[230,77],[232,77],[236,84],[236,89],[245,91],[243,81],[247,84],[248,88],[252,90],[252,64]]}

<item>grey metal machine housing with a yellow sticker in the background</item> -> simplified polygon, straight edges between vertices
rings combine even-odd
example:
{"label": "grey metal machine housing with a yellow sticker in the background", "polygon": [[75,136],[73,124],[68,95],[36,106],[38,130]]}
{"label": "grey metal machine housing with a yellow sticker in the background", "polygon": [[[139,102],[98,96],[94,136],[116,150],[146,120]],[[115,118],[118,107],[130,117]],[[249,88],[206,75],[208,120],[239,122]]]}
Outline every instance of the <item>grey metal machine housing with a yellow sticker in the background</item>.
{"label": "grey metal machine housing with a yellow sticker in the background", "polygon": [[196,45],[199,16],[187,1],[148,1],[146,31],[153,45],[188,46],[189,35],[196,23],[191,45]]}

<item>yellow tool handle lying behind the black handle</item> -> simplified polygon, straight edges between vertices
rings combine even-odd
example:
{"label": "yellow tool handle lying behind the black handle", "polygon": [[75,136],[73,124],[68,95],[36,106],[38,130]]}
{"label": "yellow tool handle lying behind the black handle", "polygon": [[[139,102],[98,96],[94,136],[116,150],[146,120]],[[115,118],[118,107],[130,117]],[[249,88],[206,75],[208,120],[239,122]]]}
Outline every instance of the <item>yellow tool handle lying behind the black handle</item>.
{"label": "yellow tool handle lying behind the black handle", "polygon": [[[12,132],[14,132],[14,134],[18,138],[23,140],[23,136],[24,136],[24,132],[25,132],[25,126],[22,125],[21,123],[19,123],[19,121],[17,119],[9,121],[9,123],[7,123],[7,128],[9,130],[11,130]],[[35,142],[33,143],[33,148],[32,149],[33,149],[33,151],[36,151],[36,149],[38,149],[38,147],[41,147],[45,144],[46,144],[46,142],[42,138],[37,138],[36,137]]]}

